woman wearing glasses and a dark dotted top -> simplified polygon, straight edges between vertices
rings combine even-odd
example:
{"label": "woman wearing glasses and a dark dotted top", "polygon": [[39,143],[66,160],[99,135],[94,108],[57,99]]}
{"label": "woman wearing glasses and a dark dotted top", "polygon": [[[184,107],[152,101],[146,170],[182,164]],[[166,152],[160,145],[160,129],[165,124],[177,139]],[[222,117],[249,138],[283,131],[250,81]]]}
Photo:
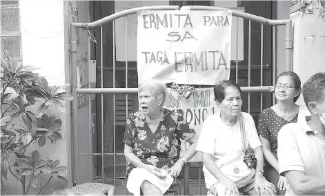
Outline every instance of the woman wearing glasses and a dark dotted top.
{"label": "woman wearing glasses and a dark dotted top", "polygon": [[304,111],[295,102],[302,91],[299,76],[294,72],[284,72],[277,77],[275,98],[277,104],[264,109],[259,114],[258,134],[262,142],[265,158],[264,177],[277,186],[277,193],[284,195],[288,182],[284,176],[279,176],[277,161],[277,133],[290,122],[297,122],[298,114]]}

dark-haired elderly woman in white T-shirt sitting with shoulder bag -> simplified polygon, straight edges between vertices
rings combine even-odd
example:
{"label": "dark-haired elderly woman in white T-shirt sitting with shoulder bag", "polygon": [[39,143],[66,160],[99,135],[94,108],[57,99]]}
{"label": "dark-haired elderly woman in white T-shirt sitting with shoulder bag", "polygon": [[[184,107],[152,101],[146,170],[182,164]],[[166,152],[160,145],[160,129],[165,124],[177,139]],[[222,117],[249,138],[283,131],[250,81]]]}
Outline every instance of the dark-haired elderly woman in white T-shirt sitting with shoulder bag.
{"label": "dark-haired elderly woman in white T-shirt sitting with shoulder bag", "polygon": [[[241,111],[240,87],[224,81],[215,87],[214,94],[220,111],[204,120],[197,142],[208,195],[274,195],[275,186],[263,177],[262,144],[254,120]],[[248,146],[256,160],[251,155],[245,157]]]}

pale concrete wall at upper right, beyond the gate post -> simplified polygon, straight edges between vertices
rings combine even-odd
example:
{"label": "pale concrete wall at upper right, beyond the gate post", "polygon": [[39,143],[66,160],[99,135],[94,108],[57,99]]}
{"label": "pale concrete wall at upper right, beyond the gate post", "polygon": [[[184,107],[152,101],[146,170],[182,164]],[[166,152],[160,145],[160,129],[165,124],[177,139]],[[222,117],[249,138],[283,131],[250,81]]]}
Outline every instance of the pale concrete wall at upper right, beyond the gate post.
{"label": "pale concrete wall at upper right, beyond the gate post", "polygon": [[[325,72],[325,21],[314,14],[290,14],[293,20],[293,71],[304,84],[308,77]],[[299,97],[299,104],[304,99]]]}

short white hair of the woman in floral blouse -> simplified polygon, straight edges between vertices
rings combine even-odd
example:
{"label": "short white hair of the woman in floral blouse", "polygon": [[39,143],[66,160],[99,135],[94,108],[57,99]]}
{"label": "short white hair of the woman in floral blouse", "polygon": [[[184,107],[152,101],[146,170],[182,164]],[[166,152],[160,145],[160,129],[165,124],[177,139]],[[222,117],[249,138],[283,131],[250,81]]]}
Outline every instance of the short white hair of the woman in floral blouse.
{"label": "short white hair of the woman in floral blouse", "polygon": [[155,96],[156,100],[159,96],[161,96],[161,106],[164,105],[167,96],[167,86],[165,83],[161,83],[159,80],[145,80],[143,83],[141,83],[141,85],[139,85],[139,93],[145,88],[149,89],[153,96]]}

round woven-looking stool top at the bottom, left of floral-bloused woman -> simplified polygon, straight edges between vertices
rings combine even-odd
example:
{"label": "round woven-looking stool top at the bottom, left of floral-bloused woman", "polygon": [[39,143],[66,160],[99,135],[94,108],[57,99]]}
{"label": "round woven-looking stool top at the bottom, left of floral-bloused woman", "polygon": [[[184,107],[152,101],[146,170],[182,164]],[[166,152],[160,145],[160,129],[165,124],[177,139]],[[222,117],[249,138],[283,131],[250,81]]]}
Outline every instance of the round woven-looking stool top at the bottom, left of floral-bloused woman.
{"label": "round woven-looking stool top at the bottom, left of floral-bloused woman", "polygon": [[70,188],[70,193],[77,194],[77,195],[83,195],[87,193],[108,193],[108,190],[112,185],[110,184],[103,184],[103,183],[83,183],[78,186],[74,186]]}

